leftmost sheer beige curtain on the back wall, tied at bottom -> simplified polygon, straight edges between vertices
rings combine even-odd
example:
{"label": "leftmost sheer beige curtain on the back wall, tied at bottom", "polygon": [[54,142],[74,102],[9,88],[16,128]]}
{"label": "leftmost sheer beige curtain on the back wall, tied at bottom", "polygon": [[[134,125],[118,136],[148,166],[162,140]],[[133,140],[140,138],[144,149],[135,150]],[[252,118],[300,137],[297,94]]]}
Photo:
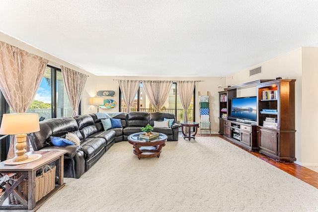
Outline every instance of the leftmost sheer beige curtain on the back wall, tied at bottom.
{"label": "leftmost sheer beige curtain on the back wall, tied at bottom", "polygon": [[119,79],[118,84],[123,95],[124,101],[127,104],[127,113],[129,113],[130,106],[133,104],[136,93],[139,89],[140,80]]}

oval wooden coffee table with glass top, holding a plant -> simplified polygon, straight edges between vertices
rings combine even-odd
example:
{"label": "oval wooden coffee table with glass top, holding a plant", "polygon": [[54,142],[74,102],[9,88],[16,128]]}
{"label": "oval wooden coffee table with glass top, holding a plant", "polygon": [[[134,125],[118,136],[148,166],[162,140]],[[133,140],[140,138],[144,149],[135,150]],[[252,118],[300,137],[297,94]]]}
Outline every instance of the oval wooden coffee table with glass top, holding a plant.
{"label": "oval wooden coffee table with glass top, holding a plant", "polygon": [[165,146],[165,141],[167,141],[167,136],[159,133],[159,136],[154,139],[143,139],[139,137],[141,134],[143,133],[134,133],[128,136],[128,142],[134,145],[134,154],[139,159],[154,156],[159,158],[162,146]]}

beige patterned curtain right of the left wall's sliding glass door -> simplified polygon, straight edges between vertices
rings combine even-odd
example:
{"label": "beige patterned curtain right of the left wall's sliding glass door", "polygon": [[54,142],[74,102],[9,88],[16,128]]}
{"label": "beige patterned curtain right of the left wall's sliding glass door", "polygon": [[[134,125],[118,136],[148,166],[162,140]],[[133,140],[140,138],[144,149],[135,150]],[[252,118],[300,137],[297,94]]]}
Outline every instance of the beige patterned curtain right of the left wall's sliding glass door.
{"label": "beige patterned curtain right of the left wall's sliding glass door", "polygon": [[79,102],[88,75],[74,71],[64,66],[61,66],[61,70],[65,89],[73,110],[72,117],[74,117],[78,115]]}

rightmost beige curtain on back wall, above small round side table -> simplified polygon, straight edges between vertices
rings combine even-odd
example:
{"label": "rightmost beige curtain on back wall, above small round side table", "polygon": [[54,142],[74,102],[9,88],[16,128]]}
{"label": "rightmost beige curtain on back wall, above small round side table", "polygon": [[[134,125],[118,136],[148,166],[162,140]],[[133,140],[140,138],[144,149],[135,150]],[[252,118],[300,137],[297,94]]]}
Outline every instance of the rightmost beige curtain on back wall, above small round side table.
{"label": "rightmost beige curtain on back wall, above small round side table", "polygon": [[184,110],[183,121],[188,121],[188,107],[191,103],[195,81],[177,81],[179,96]]}

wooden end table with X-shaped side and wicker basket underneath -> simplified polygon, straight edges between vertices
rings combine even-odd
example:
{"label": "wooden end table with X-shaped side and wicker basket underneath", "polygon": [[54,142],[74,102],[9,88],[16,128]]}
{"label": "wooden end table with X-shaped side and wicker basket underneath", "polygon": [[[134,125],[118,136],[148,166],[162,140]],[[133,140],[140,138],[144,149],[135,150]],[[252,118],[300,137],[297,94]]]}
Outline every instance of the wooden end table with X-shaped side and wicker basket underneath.
{"label": "wooden end table with X-shaped side and wicker basket underneath", "polygon": [[[41,154],[42,157],[20,165],[5,165],[0,162],[0,178],[5,174],[10,176],[3,186],[5,190],[0,197],[0,210],[37,210],[49,197],[64,187],[65,151],[33,151],[30,153]],[[57,167],[48,164],[57,160],[59,175],[56,185]]]}

